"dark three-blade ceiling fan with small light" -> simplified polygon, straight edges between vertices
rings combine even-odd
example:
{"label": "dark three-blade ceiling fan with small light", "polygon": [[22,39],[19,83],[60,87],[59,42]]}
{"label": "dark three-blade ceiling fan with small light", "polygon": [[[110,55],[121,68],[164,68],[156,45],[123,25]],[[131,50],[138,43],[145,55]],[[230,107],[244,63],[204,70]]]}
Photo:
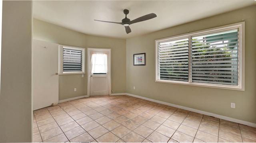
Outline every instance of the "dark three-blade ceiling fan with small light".
{"label": "dark three-blade ceiling fan with small light", "polygon": [[132,30],[131,28],[129,27],[129,25],[131,24],[134,24],[134,23],[137,23],[137,22],[142,22],[142,21],[145,21],[145,20],[150,20],[152,18],[155,18],[156,17],[156,14],[154,13],[151,13],[151,14],[147,14],[145,16],[141,16],[139,18],[136,18],[135,20],[130,20],[129,18],[127,18],[127,14],[129,14],[129,10],[124,10],[124,14],[125,14],[125,18],[122,19],[122,22],[108,22],[108,21],[102,21],[102,20],[95,20],[95,21],[99,21],[99,22],[108,22],[108,23],[114,23],[114,24],[121,24],[121,25],[124,25],[125,27],[125,31],[126,33],[130,33]]}

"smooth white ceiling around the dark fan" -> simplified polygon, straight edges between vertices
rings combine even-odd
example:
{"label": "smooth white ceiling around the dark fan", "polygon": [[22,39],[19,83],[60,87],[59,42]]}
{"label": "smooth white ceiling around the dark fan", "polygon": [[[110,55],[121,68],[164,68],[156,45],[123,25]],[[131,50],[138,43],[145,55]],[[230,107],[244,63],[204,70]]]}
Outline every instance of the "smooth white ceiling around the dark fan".
{"label": "smooth white ceiling around the dark fan", "polygon": [[[255,4],[254,0],[57,0],[33,2],[34,18],[88,35],[126,39],[175,25],[200,20]],[[156,18],[130,25],[126,34],[120,24],[128,9],[130,20],[155,13]]]}

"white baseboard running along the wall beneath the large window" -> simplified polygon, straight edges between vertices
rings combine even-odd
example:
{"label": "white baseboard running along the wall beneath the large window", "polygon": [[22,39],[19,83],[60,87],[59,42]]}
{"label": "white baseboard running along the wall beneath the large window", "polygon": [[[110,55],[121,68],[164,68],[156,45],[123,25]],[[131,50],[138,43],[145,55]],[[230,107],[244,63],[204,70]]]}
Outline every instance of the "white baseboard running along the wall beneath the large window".
{"label": "white baseboard running along the wall beneath the large window", "polygon": [[138,96],[138,95],[134,95],[134,94],[130,94],[130,93],[126,93],[125,95],[141,98],[141,99],[144,99],[144,100],[149,100],[149,101],[152,101],[152,102],[156,102],[156,103],[160,103],[160,104],[164,104],[164,105],[168,105],[168,106],[172,106],[172,107],[176,107],[176,108],[180,108],[180,109],[184,109],[184,110],[188,110],[188,111],[192,111],[192,112],[196,112],[196,113],[199,113],[199,114],[204,114],[204,115],[207,115],[207,116],[212,116],[212,117],[219,118],[219,119],[224,119],[224,120],[227,120],[227,121],[232,121],[232,122],[235,122],[235,123],[240,123],[240,124],[243,124],[243,125],[248,125],[250,127],[256,127],[256,123],[251,123],[251,122],[243,121],[243,120],[240,120],[240,119],[234,119],[234,118],[230,118],[230,117],[226,117],[226,116],[222,116],[222,115],[218,115],[218,114],[213,114],[213,113],[210,113],[210,112],[205,112],[205,111],[201,111],[201,110],[197,110],[197,109],[193,109],[193,108],[188,108],[188,107],[185,107],[185,106],[180,106],[180,105],[176,105],[176,104],[162,102],[162,101],[159,101],[159,100],[154,100],[154,99],[150,99],[150,98],[146,98],[146,97],[142,97],[142,96]]}

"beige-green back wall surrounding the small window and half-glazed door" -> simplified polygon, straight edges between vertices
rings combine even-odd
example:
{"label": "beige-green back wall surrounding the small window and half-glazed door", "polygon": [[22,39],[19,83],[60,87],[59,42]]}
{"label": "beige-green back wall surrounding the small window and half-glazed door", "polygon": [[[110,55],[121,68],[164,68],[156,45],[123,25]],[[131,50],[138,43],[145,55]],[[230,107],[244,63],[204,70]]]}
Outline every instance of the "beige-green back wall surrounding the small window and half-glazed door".
{"label": "beige-green back wall surrounding the small window and half-glazed door", "polygon": [[[126,92],[126,40],[85,35],[64,27],[34,19],[33,38],[86,48],[110,48],[112,52],[113,93]],[[87,64],[86,64],[87,69]],[[87,71],[86,71],[87,73]],[[74,88],[77,89],[74,92]],[[87,95],[87,74],[59,76],[59,100]]]}

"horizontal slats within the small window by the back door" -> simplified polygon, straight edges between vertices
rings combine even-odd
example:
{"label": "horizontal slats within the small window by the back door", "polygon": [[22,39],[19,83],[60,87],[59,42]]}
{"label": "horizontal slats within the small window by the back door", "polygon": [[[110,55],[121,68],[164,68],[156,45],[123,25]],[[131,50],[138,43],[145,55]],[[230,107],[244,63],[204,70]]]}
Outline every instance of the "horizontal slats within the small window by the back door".
{"label": "horizontal slats within the small window by the back door", "polygon": [[63,72],[82,71],[82,50],[63,47]]}

